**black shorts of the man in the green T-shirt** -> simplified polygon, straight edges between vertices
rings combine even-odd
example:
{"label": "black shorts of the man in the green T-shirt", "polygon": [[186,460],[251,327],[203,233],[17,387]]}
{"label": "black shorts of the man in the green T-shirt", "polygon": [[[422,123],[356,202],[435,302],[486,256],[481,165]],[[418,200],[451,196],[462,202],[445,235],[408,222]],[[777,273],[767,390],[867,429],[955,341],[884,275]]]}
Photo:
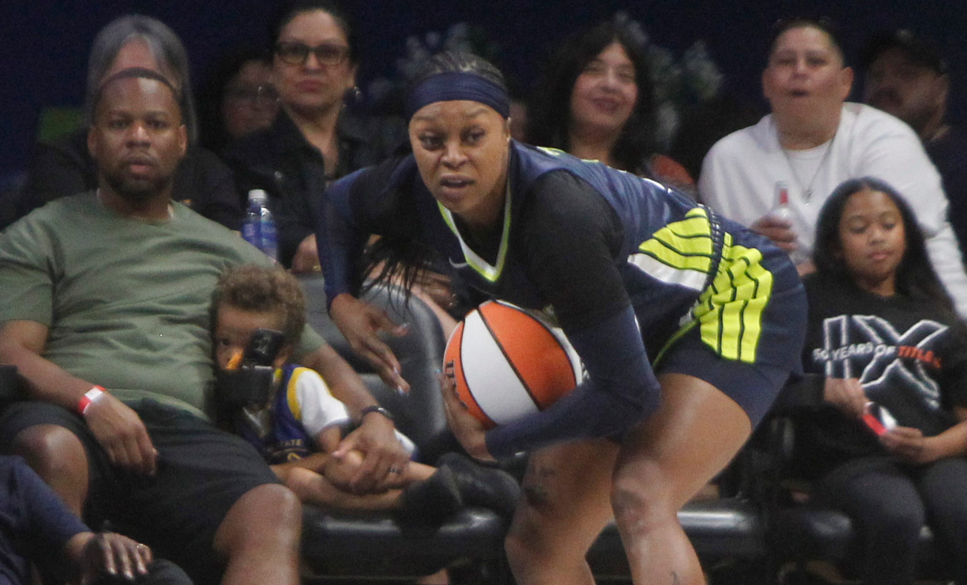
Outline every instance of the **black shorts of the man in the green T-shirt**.
{"label": "black shorts of the man in the green T-shirt", "polygon": [[196,583],[218,582],[223,559],[213,543],[221,520],[252,488],[278,480],[244,439],[198,417],[154,401],[129,404],[158,450],[155,477],[111,465],[83,419],[55,404],[15,403],[0,419],[0,444],[35,425],[73,432],[87,451],[90,474],[84,519],[96,530],[109,520],[117,531],[150,545]]}

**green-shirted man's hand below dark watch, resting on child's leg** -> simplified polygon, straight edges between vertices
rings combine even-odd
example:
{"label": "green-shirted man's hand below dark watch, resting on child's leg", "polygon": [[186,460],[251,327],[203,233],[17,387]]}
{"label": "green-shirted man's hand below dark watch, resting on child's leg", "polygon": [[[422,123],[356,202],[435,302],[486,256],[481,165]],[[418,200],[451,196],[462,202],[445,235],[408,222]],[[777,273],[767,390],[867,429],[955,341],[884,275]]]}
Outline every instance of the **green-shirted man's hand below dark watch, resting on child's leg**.
{"label": "green-shirted man's hand below dark watch, resting on child's leg", "polygon": [[354,493],[376,493],[396,485],[410,464],[393,422],[378,412],[366,413],[363,424],[339,441],[332,457],[341,460],[352,451],[363,453],[363,463],[349,481]]}

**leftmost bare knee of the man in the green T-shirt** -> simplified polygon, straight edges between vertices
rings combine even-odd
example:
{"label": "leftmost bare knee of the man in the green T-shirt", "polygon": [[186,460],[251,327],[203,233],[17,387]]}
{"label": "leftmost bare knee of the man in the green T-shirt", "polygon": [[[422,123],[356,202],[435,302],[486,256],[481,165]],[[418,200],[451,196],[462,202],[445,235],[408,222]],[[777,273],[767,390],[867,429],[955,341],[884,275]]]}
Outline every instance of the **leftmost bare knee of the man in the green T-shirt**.
{"label": "leftmost bare knee of the man in the green T-shirt", "polygon": [[84,445],[73,432],[63,427],[27,427],[16,434],[11,452],[27,460],[27,464],[47,483],[86,483],[87,455]]}

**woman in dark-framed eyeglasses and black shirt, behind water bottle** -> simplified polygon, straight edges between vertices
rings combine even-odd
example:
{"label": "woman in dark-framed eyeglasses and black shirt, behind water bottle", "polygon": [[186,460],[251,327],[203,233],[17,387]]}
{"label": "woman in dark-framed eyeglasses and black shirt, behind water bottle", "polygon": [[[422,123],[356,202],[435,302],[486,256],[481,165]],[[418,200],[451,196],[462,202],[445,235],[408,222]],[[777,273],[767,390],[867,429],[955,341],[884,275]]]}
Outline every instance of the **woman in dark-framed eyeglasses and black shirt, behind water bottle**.
{"label": "woman in dark-framed eyeglasses and black shirt, behind water bottle", "polygon": [[311,217],[326,187],[373,164],[405,140],[401,124],[348,112],[358,55],[353,27],[330,0],[292,0],[272,27],[280,110],[269,128],[228,149],[243,196],[264,189],[278,224],[278,260],[318,269]]}

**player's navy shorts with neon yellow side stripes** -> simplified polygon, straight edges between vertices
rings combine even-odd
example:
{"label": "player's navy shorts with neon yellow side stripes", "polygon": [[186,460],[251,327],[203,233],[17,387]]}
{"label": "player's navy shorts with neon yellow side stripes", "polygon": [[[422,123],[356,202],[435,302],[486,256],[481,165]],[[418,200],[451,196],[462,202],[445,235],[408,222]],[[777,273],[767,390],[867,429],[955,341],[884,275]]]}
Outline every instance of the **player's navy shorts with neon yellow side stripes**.
{"label": "player's navy shorts with neon yellow side stripes", "polygon": [[724,223],[730,231],[717,276],[654,368],[709,382],[742,406],[754,429],[790,374],[802,372],[806,290],[785,252]]}

